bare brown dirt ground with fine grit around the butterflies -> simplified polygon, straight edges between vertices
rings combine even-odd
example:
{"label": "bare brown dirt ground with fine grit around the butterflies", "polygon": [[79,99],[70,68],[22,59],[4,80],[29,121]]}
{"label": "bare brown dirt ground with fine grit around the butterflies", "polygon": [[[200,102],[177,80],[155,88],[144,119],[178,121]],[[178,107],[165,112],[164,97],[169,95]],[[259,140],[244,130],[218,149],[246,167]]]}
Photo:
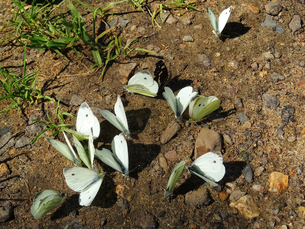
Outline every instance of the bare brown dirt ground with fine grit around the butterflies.
{"label": "bare brown dirt ground with fine grit around the butterflies", "polygon": [[[111,1],[84,2],[97,8],[105,7]],[[0,183],[7,183],[6,187],[0,187],[0,200],[2,205],[5,201],[12,202],[14,216],[11,220],[0,223],[0,228],[65,228],[68,224],[68,228],[246,229],[279,228],[282,225],[287,225],[289,229],[304,228],[303,212],[298,207],[304,205],[305,100],[304,87],[298,85],[296,79],[305,78],[305,44],[302,40],[303,28],[292,33],[288,24],[294,15],[304,19],[305,6],[304,1],[299,0],[278,2],[283,6],[281,15],[271,18],[285,29],[282,34],[260,25],[265,19],[266,1],[217,2],[212,7],[216,16],[234,4],[223,31],[227,36],[221,40],[214,39],[211,35],[212,26],[205,10],[211,2],[199,1],[194,4],[201,12],[172,10],[177,21],[172,24],[165,22],[162,29],[153,27],[149,14],[133,9],[128,2],[115,5],[110,10],[113,15],[109,13],[103,20],[109,23],[123,17],[128,23],[117,27],[113,34],[120,35],[124,43],[144,35],[134,47],[153,49],[158,53],[157,56],[143,52],[133,52],[127,57],[121,55],[109,65],[100,81],[101,69],[88,76],[77,75],[88,71],[85,66],[93,64],[91,52],[86,47],[79,47],[81,58],[72,51],[67,51],[67,59],[60,58],[51,50],[27,49],[27,72],[41,67],[41,81],[37,86],[42,88],[45,95],[56,101],[60,99],[62,112],[76,115],[82,101],[89,104],[101,123],[101,133],[95,141],[95,147],[109,147],[113,137],[120,133],[96,111],[113,110],[118,94],[122,98],[131,133],[134,133],[132,136],[138,138],[128,142],[129,169],[132,170],[128,179],[95,159],[97,168],[105,171],[108,176],[105,176],[99,193],[88,207],[78,204],[77,192],[71,191],[65,183],[63,168],[72,166],[72,163],[46,141],[46,137],[53,138],[53,132],[41,136],[32,146],[15,148],[13,145],[1,155],[9,154],[11,158],[6,162],[10,174],[0,179]],[[149,1],[148,5],[155,9],[158,3],[160,1]],[[248,3],[256,6],[260,13],[253,13],[247,6]],[[0,21],[11,9],[13,4],[5,0],[0,9]],[[68,12],[65,4],[60,10]],[[83,6],[79,6],[78,10],[82,12],[88,30],[92,29],[92,13]],[[160,15],[156,17],[161,23]],[[190,20],[189,25],[186,19]],[[98,24],[102,31],[104,26],[100,18]],[[194,41],[184,42],[183,38],[187,35],[191,35]],[[12,41],[0,44],[0,50],[0,67],[21,73],[23,47]],[[263,54],[265,52],[274,55],[280,53],[280,56],[267,58]],[[135,72],[148,70],[153,73],[155,64],[160,59],[164,59],[171,72],[173,80],[169,87],[175,93],[182,87],[191,85],[201,95],[217,96],[221,107],[215,112],[223,116],[223,119],[213,122],[204,118],[203,123],[191,127],[181,122],[182,129],[178,135],[167,144],[161,144],[160,136],[174,119],[174,113],[162,95],[152,98],[123,91],[124,77],[119,73],[119,64],[132,62],[138,64]],[[278,72],[284,79],[272,82],[272,72]],[[274,109],[269,107],[263,94],[274,95],[279,105]],[[242,99],[243,107],[236,105],[237,97]],[[75,98],[81,98],[81,102]],[[24,113],[12,111],[0,117],[0,126],[12,127],[11,132],[15,140],[18,140],[24,135],[29,136],[26,127],[31,119],[47,121],[48,112],[52,120],[57,120],[56,106],[56,103],[49,100],[40,100]],[[287,122],[282,114],[286,106],[295,109],[292,113],[294,117]],[[240,122],[239,114],[242,112],[249,117],[246,124]],[[184,118],[188,119],[187,111]],[[75,120],[67,118],[66,123],[75,124]],[[164,200],[164,188],[174,165],[181,160],[185,160],[187,165],[192,164],[195,141],[203,126],[230,136],[233,143],[231,145],[224,141],[226,175],[218,182],[220,187],[206,185],[184,170],[173,197]],[[288,141],[291,136],[295,137],[292,142]],[[35,136],[29,137],[33,140]],[[64,142],[62,134],[55,136],[55,139]],[[169,168],[163,170],[159,158],[171,149],[177,151],[177,160],[167,161]],[[253,159],[245,160],[240,156],[242,151],[246,151]],[[267,163],[264,163],[265,159]],[[254,176],[252,183],[246,182],[242,174],[246,163],[253,171],[262,163],[265,167],[260,176]],[[281,195],[269,191],[270,174],[274,171],[289,176],[289,186]],[[225,191],[224,184],[227,182],[239,185],[241,191],[254,198],[260,210],[258,217],[248,219],[229,206],[229,199],[220,200],[219,192]],[[264,190],[255,191],[254,184],[260,184]],[[124,189],[121,196],[116,192],[117,186]],[[212,201],[201,208],[187,204],[185,195],[201,187],[207,189]],[[34,195],[43,189],[66,192],[67,198],[51,214],[35,220],[30,213],[30,205]],[[276,208],[279,208],[277,215],[272,211]],[[291,214],[291,210],[297,215]],[[221,212],[228,213],[228,216],[218,219],[215,214],[221,215]],[[277,216],[275,220],[274,216]],[[275,226],[270,224],[273,221]]]}

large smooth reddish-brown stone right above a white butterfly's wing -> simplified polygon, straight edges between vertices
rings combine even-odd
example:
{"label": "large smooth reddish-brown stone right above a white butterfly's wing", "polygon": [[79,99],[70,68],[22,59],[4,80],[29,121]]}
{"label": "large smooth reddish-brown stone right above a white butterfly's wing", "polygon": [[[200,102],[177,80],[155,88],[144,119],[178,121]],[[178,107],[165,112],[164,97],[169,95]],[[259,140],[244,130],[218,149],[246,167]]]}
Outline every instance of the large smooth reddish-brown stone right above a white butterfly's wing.
{"label": "large smooth reddish-brown stone right above a white butterfly's wing", "polygon": [[220,133],[202,128],[195,142],[195,160],[210,151],[221,151],[223,140]]}

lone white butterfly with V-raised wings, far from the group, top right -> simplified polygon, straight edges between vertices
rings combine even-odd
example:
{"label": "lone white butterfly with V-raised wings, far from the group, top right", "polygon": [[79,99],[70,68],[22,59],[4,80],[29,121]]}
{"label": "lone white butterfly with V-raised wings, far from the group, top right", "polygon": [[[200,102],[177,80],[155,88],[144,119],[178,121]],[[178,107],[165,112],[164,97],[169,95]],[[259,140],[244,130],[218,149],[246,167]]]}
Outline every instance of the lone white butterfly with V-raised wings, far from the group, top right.
{"label": "lone white butterfly with V-raised wings, far from the group, top right", "polygon": [[225,9],[224,11],[222,11],[221,14],[219,15],[219,18],[216,18],[215,15],[213,14],[212,10],[210,10],[206,6],[206,11],[208,13],[210,22],[212,24],[213,30],[215,31],[215,35],[217,37],[220,36],[221,31],[224,29],[224,26],[227,24],[227,20],[230,16],[231,10],[232,10],[232,6],[230,6],[228,9]]}

